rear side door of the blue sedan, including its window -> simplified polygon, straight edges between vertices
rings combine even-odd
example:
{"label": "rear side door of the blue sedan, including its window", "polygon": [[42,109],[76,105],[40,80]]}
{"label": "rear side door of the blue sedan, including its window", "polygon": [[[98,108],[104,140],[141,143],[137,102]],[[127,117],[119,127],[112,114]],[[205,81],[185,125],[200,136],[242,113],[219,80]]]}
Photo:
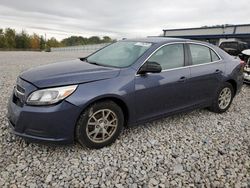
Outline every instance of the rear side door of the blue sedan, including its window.
{"label": "rear side door of the blue sedan, including its window", "polygon": [[210,103],[223,79],[225,65],[217,53],[202,44],[188,44],[190,52],[190,89],[193,105]]}

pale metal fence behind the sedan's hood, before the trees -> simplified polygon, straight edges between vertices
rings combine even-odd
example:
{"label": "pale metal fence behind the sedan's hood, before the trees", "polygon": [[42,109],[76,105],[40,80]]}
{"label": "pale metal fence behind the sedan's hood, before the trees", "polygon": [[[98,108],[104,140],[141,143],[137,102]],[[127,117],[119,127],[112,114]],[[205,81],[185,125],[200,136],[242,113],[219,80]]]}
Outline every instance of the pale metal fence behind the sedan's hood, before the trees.
{"label": "pale metal fence behind the sedan's hood, before the trees", "polygon": [[102,44],[91,44],[91,45],[80,45],[80,46],[69,46],[69,47],[60,47],[60,48],[51,48],[51,52],[68,52],[68,51],[84,51],[84,52],[95,52],[100,48],[103,48],[110,43],[102,43]]}

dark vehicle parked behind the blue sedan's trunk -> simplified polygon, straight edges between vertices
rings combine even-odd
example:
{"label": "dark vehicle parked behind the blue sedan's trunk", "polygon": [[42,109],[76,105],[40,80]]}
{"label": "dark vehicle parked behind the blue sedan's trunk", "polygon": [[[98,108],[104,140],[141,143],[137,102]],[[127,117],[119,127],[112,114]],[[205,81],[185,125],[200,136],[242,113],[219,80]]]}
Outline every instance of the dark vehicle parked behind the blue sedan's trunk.
{"label": "dark vehicle parked behind the blue sedan's trunk", "polygon": [[219,47],[232,56],[238,56],[243,50],[248,49],[248,44],[242,41],[223,41]]}

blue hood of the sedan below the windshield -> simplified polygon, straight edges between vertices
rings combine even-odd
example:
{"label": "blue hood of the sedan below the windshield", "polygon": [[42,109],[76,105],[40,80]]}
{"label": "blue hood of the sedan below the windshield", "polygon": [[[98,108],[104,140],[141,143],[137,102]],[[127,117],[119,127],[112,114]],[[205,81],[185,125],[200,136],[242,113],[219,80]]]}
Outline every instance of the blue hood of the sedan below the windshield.
{"label": "blue hood of the sedan below the windshield", "polygon": [[90,64],[80,59],[31,68],[20,75],[38,88],[94,82],[116,77],[118,68]]}

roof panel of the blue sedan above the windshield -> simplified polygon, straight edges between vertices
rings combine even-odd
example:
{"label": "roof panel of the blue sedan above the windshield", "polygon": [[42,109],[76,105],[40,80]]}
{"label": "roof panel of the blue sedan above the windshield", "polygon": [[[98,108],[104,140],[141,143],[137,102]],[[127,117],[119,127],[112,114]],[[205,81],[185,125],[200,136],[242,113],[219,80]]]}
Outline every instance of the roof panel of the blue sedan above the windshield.
{"label": "roof panel of the blue sedan above the windshield", "polygon": [[123,41],[169,43],[169,42],[186,42],[186,41],[190,41],[190,40],[189,39],[181,39],[181,38],[170,38],[170,37],[146,37],[146,38],[124,39]]}

